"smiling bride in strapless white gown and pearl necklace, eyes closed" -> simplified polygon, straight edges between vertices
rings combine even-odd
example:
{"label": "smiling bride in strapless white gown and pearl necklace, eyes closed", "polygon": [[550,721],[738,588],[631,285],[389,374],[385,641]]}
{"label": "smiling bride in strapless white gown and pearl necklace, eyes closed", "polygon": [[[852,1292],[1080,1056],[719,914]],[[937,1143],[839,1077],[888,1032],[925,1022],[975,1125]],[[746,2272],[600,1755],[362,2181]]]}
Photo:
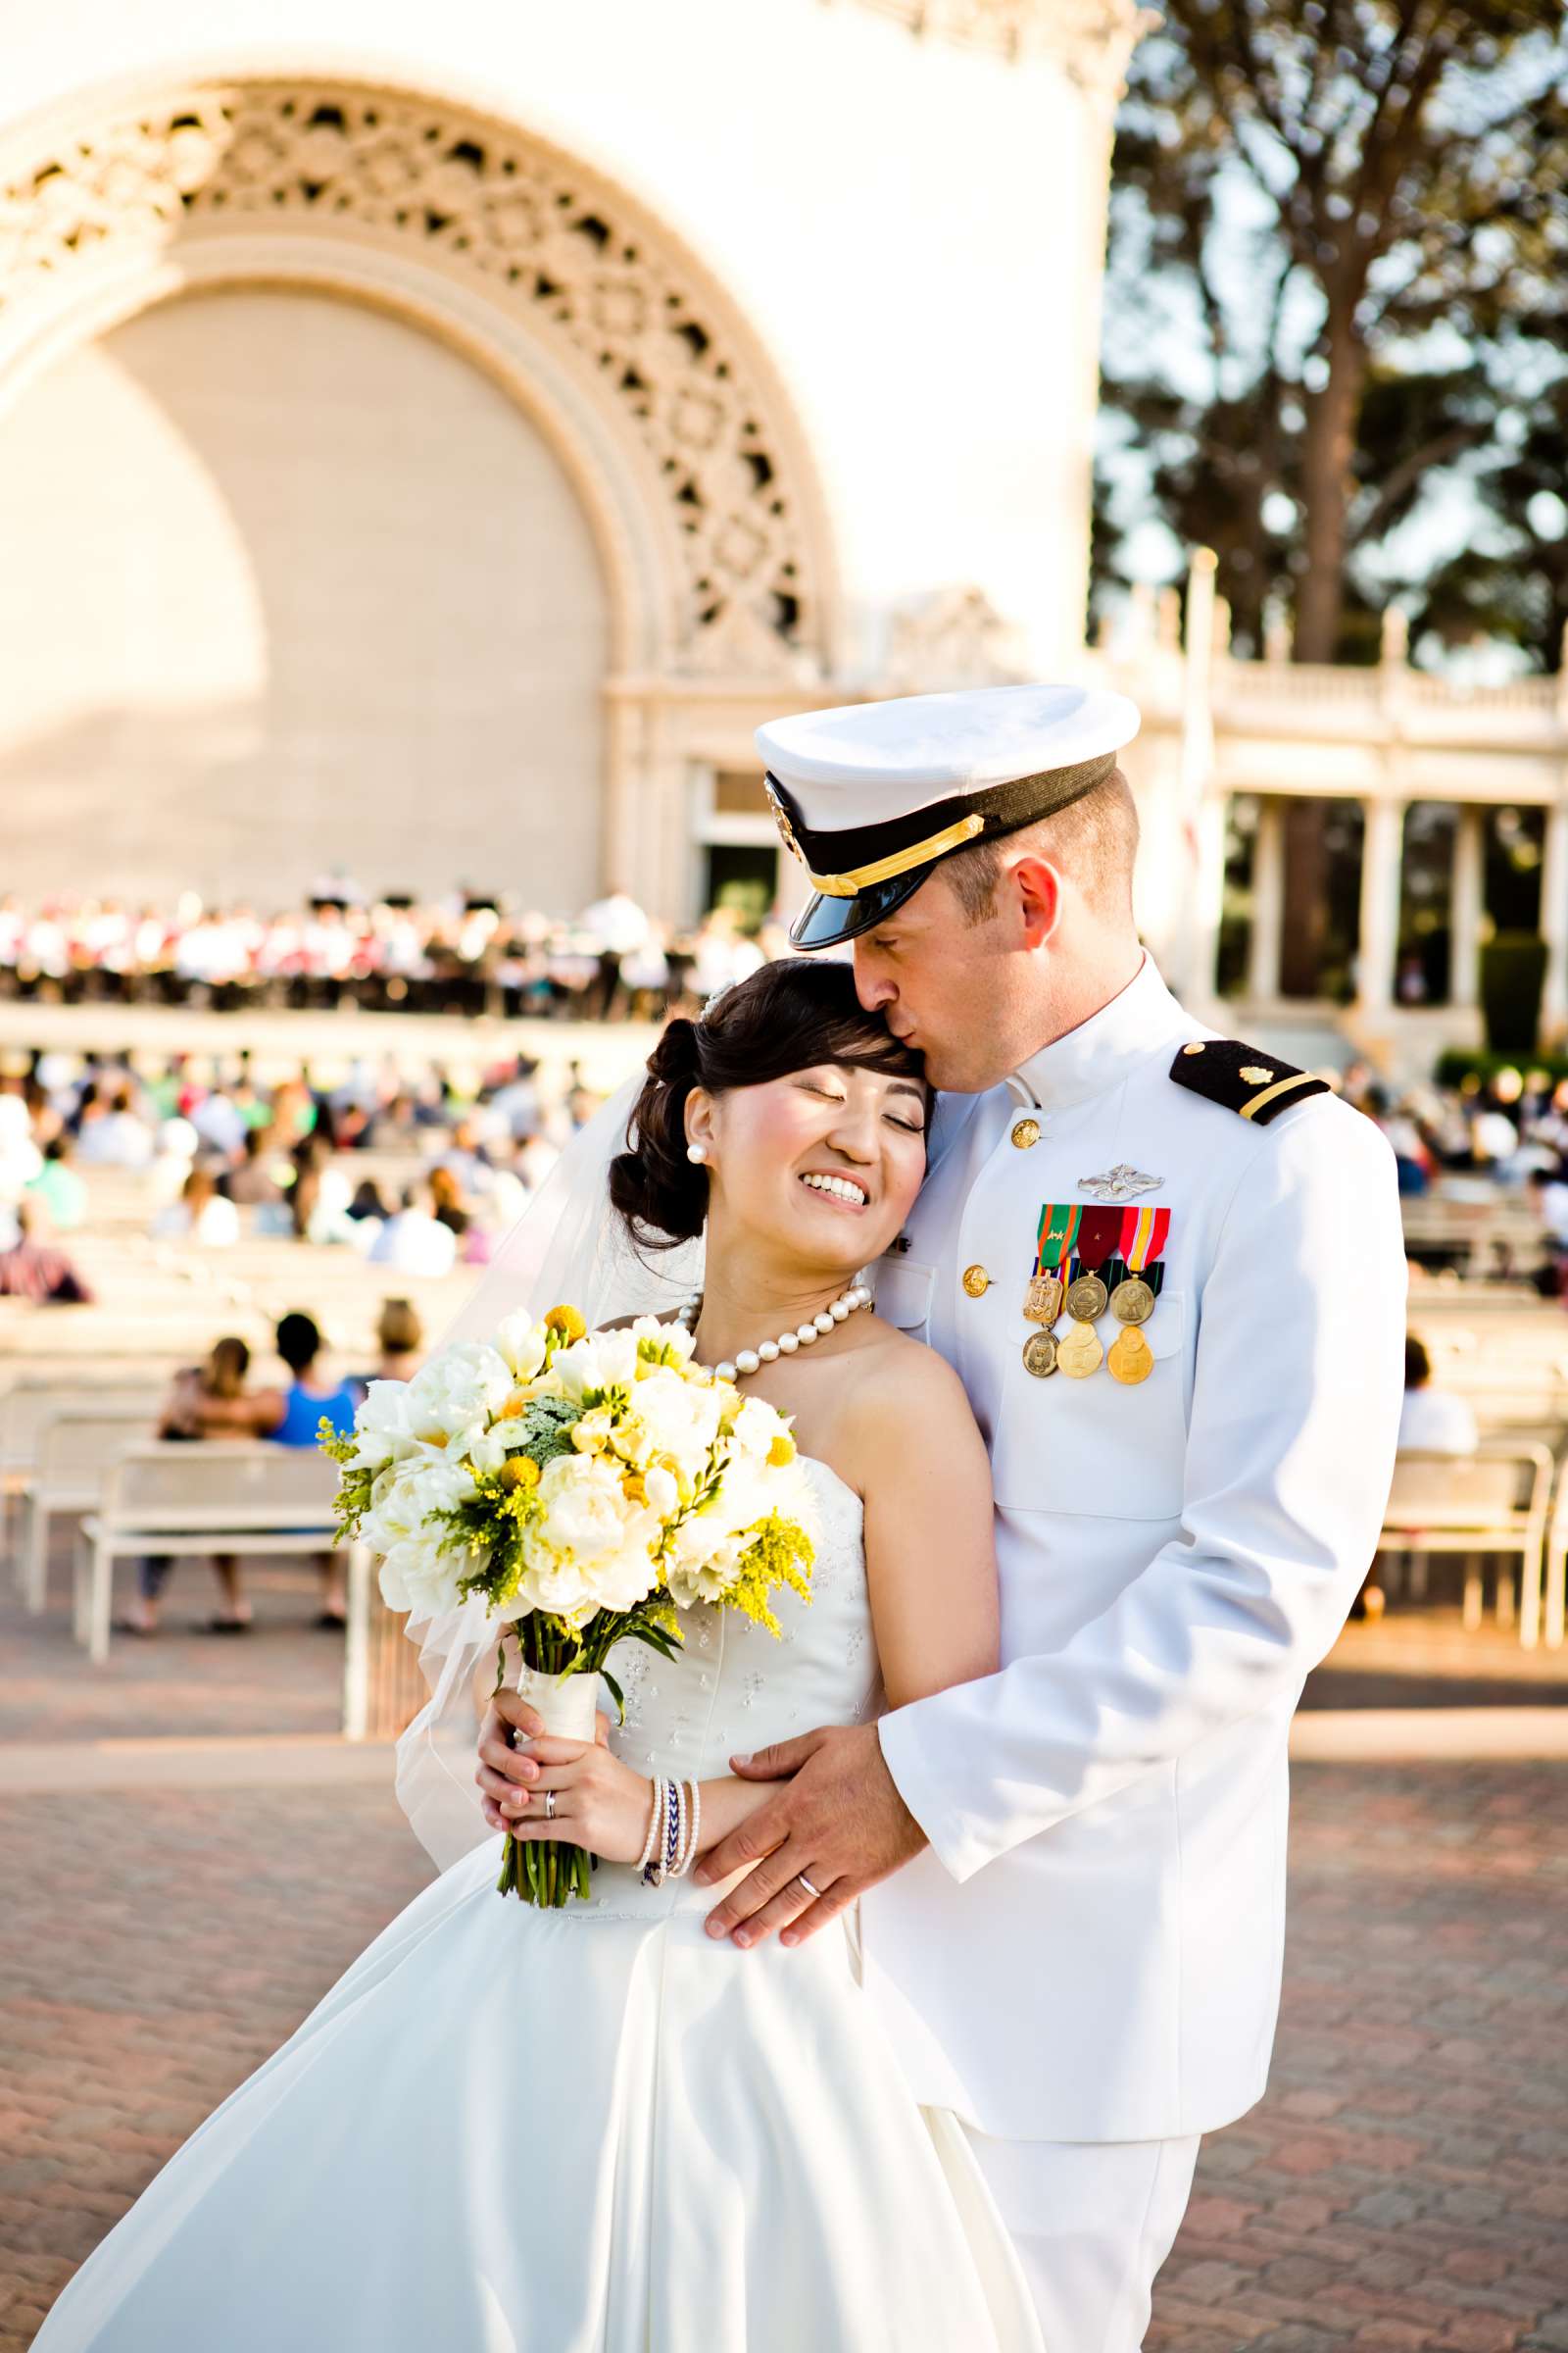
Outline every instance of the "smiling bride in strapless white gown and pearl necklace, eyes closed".
{"label": "smiling bride in strapless white gown and pearl necklace, eyes closed", "polygon": [[[654,1774],[701,1781],[705,1852],[769,1798],[738,1751],[997,1666],[957,1377],[875,1313],[811,1322],[898,1238],[929,1108],[844,965],[670,1024],[614,1221],[644,1257],[705,1235],[698,1358],[795,1417],[811,1602],[778,1595],[780,1638],[689,1609],[672,1664],[623,1645],[609,1746],[538,1739],[527,1788],[487,1777],[498,1835],[470,1791],[477,1842],[169,2160],[35,2353],[1039,2353],[961,2129],[860,1998],[853,1913],[738,1955],[703,1934],[715,1889],[635,1868]],[[590,1847],[592,1897],[501,1899],[505,1835]]]}

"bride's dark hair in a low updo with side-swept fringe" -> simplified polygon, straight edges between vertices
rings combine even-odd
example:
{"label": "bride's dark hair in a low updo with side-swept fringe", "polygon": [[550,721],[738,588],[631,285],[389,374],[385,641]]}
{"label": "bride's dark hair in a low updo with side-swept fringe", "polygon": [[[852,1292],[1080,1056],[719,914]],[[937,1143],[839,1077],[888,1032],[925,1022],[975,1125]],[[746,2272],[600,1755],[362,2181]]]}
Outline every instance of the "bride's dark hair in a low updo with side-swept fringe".
{"label": "bride's dark hair in a low updo with side-swept fringe", "polygon": [[649,1054],[628,1136],[609,1165],[609,1198],[646,1249],[691,1242],[708,1221],[708,1169],[686,1158],[686,1096],[766,1087],[792,1071],[856,1064],[924,1082],[922,1056],[856,998],[849,965],[792,955],[762,965],[712,1000],[701,1021],[670,1021]]}

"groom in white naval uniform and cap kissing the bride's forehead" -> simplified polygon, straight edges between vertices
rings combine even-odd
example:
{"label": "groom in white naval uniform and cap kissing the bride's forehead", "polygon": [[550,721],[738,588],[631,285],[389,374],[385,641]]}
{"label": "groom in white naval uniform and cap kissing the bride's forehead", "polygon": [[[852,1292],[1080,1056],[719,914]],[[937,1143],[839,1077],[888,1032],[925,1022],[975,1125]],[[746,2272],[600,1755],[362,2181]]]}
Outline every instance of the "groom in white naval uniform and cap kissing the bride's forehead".
{"label": "groom in white naval uniform and cap kissing the bride's forehead", "polygon": [[[877,1311],[990,1442],[1001,1671],[783,1741],[698,1878],[715,1937],[860,1901],[867,1993],[957,2111],[1051,2353],[1135,2353],[1199,2134],[1258,2101],[1286,1737],[1378,1544],[1403,1367],[1382,1136],[1218,1040],[1133,927],[1114,694],[997,687],[759,729],[860,1000],[943,1104]],[[910,1464],[940,1478],[940,1464]]]}

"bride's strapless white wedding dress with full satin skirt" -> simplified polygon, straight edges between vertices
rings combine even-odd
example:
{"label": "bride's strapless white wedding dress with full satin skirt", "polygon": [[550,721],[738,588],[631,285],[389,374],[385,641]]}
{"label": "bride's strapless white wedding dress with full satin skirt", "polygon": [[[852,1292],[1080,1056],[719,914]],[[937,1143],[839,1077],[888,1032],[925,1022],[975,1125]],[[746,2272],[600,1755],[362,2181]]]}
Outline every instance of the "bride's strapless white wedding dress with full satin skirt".
{"label": "bride's strapless white wedding dress with full satin skirt", "polygon": [[[809,1478],[816,1598],[780,1598],[783,1640],[693,1609],[675,1664],[623,1645],[632,1765],[717,1779],[875,1713],[860,1501]],[[35,2353],[1041,2353],[846,1922],[743,1953],[691,1880],[599,1866],[541,1913],[498,1857],[425,1887],[207,2118]]]}

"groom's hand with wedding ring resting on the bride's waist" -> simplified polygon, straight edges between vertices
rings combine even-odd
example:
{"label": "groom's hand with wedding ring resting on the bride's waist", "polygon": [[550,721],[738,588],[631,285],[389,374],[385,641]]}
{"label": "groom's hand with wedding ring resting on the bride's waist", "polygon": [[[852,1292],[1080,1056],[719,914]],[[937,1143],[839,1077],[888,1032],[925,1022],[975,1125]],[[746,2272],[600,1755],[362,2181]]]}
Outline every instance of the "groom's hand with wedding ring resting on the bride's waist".
{"label": "groom's hand with wedding ring resting on the bride's waist", "polygon": [[762,1944],[783,1929],[783,1944],[804,1944],[926,1845],[882,1762],[875,1725],[806,1732],[729,1762],[743,1781],[790,1786],[703,1857],[696,1878],[705,1885],[757,1866],[708,1913],[710,1937]]}

